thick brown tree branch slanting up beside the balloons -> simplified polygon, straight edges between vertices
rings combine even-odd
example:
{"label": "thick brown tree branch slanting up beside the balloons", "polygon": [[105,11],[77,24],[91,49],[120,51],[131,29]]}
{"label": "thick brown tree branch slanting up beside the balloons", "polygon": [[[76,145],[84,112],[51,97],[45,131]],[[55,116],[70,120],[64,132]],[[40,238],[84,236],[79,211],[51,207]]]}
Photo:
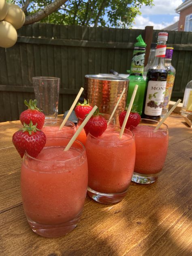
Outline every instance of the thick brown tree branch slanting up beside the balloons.
{"label": "thick brown tree branch slanting up beside the balloons", "polygon": [[60,6],[62,6],[62,4],[64,4],[66,1],[67,0],[55,0],[51,4],[47,5],[44,9],[41,9],[37,13],[27,16],[24,25],[29,25],[34,22],[38,22],[41,19],[44,19],[49,14],[57,11],[60,8]]}

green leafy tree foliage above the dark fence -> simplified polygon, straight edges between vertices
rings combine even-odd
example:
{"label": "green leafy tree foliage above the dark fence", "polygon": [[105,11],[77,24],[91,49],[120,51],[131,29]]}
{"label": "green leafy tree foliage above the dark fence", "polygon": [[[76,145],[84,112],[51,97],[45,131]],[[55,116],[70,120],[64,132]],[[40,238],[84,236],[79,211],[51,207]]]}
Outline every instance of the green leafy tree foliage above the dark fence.
{"label": "green leafy tree foliage above the dark fence", "polygon": [[[19,7],[24,0],[7,0]],[[45,9],[54,0],[31,0],[26,16]],[[64,2],[64,1],[63,1]],[[67,0],[57,11],[51,13],[41,23],[131,28],[141,6],[153,6],[153,0]]]}

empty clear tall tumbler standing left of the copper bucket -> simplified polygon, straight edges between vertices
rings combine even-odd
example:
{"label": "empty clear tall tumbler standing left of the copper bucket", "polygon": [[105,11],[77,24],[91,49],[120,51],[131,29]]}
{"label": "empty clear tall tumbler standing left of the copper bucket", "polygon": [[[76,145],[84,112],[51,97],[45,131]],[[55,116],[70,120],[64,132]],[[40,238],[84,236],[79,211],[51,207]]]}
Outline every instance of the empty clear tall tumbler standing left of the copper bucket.
{"label": "empty clear tall tumbler standing left of the copper bucket", "polygon": [[43,110],[45,119],[57,119],[60,78],[33,77],[32,81],[37,106]]}

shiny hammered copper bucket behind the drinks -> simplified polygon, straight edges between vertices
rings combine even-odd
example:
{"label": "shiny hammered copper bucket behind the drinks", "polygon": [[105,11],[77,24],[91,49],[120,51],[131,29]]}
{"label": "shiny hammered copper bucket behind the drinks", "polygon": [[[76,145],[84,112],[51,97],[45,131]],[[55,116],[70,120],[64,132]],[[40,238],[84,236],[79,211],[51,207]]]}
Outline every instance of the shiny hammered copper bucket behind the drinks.
{"label": "shiny hammered copper bucket behind the drinks", "polygon": [[85,75],[85,98],[92,106],[98,106],[100,113],[111,114],[124,87],[125,93],[115,111],[115,124],[119,125],[119,114],[126,107],[129,80],[113,75]]}

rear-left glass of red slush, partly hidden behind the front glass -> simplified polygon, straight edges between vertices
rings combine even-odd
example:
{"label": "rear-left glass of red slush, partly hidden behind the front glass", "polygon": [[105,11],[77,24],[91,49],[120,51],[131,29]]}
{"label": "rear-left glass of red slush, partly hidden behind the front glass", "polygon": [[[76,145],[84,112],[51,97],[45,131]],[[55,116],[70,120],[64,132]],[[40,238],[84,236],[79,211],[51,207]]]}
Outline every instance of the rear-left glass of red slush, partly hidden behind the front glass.
{"label": "rear-left glass of red slush, partly hidden behind the front glass", "polygon": [[[47,138],[50,138],[50,137],[72,138],[76,132],[75,124],[73,122],[67,121],[66,124],[62,127],[62,129],[59,130],[62,122],[63,122],[62,119],[58,119],[58,120],[48,119],[45,121],[44,126],[41,130],[45,133]],[[51,140],[49,139],[47,143],[49,143],[50,145]],[[49,146],[47,143],[45,145],[46,147]]]}

